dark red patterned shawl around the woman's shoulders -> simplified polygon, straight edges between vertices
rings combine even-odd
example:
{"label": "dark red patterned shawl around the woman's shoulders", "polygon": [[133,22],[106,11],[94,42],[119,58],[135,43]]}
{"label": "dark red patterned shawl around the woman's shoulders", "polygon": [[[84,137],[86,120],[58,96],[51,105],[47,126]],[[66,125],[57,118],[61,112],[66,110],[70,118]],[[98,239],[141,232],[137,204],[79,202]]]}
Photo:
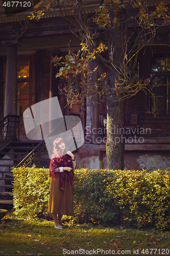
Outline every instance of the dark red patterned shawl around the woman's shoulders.
{"label": "dark red patterned shawl around the woman's shoulders", "polygon": [[[72,170],[70,172],[64,170],[63,173],[60,173],[59,167],[71,167]],[[65,184],[66,178],[70,181],[70,184],[72,185],[72,180],[74,179],[74,168],[72,164],[72,159],[69,155],[63,155],[61,157],[56,157],[55,154],[52,155],[50,161],[50,177],[59,177],[59,187],[62,187]]]}

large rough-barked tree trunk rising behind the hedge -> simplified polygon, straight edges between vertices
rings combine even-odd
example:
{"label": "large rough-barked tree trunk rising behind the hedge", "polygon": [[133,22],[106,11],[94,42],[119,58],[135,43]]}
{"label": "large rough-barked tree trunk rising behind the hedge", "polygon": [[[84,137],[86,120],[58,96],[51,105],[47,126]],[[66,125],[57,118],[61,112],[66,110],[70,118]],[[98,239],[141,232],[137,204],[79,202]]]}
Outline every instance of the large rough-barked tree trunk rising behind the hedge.
{"label": "large rough-barked tree trunk rising behind the hedge", "polygon": [[[123,12],[114,13],[114,9],[110,10],[110,20],[116,17],[121,20]],[[109,57],[112,63],[112,70],[108,71],[108,86],[112,89],[115,88],[115,78],[117,72],[121,78],[121,70],[125,57],[125,41],[124,41],[124,28],[123,23],[115,25],[109,30]],[[116,69],[115,69],[116,67]],[[107,98],[107,144],[106,155],[109,169],[124,169],[124,152],[125,152],[125,138],[124,138],[124,113],[123,101],[120,101],[122,95],[114,94]]]}

